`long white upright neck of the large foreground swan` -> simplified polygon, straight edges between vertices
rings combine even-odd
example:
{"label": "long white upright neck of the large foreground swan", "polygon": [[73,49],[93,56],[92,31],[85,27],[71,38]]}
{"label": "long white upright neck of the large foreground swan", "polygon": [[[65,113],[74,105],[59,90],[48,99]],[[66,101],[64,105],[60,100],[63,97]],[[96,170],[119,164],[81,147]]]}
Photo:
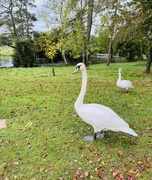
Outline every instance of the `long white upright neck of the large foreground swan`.
{"label": "long white upright neck of the large foreground swan", "polygon": [[82,86],[81,86],[81,91],[80,94],[74,104],[75,110],[78,110],[79,107],[83,104],[84,96],[86,93],[86,88],[87,88],[87,71],[84,69],[82,71]]}

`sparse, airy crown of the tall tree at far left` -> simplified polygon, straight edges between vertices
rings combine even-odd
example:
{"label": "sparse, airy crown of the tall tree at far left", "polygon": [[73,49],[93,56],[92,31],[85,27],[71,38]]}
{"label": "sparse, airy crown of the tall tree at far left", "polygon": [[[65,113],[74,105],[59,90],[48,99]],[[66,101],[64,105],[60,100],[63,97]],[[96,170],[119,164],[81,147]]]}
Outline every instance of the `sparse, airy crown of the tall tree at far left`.
{"label": "sparse, airy crown of the tall tree at far left", "polygon": [[34,14],[28,8],[36,7],[32,0],[1,0],[0,20],[6,32],[12,37],[30,37],[33,33]]}

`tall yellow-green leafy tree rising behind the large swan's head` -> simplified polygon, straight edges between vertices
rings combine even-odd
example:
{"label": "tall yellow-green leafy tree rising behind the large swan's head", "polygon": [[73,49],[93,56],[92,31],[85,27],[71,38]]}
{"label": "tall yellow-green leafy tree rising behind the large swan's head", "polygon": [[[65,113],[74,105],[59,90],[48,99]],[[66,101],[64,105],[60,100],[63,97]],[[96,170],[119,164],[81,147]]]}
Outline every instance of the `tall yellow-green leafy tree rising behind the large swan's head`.
{"label": "tall yellow-green leafy tree rising behind the large swan's head", "polygon": [[[48,0],[47,7],[49,8],[49,15],[46,15],[46,11],[42,15],[45,20],[47,19],[46,22],[50,22],[51,25],[55,22],[60,27],[59,37],[63,58],[65,59],[65,52],[68,49],[73,51],[77,48],[78,54],[81,49],[83,61],[88,65],[94,0]],[[48,20],[48,17],[52,17],[51,21]],[[72,41],[77,46],[70,44]]]}

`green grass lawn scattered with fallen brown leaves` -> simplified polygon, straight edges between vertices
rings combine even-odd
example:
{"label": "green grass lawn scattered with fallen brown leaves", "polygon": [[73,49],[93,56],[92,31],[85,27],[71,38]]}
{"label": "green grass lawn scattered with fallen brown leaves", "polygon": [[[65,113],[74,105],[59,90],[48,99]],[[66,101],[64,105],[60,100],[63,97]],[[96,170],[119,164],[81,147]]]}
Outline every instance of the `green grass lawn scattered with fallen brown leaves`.
{"label": "green grass lawn scattered with fallen brown leaves", "polygon": [[[4,180],[150,180],[152,177],[152,74],[145,62],[90,65],[85,103],[112,108],[139,135],[93,134],[74,110],[81,73],[74,66],[0,69],[0,179]],[[116,87],[118,68],[134,89]]]}

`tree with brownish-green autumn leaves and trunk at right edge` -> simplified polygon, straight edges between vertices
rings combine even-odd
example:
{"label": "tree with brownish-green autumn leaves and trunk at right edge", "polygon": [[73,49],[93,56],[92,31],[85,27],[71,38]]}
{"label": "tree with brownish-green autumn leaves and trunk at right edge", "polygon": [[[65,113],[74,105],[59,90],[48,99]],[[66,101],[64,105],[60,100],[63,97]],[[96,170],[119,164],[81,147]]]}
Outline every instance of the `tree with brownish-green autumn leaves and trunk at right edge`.
{"label": "tree with brownish-green autumn leaves and trunk at right edge", "polygon": [[[127,3],[128,8],[121,11],[121,26],[117,29],[119,42],[125,40],[130,44],[136,43],[143,47],[148,54],[146,73],[150,73],[152,63],[152,3],[149,0],[132,0]],[[140,48],[141,49],[141,48]],[[141,52],[140,52],[141,54]]]}

